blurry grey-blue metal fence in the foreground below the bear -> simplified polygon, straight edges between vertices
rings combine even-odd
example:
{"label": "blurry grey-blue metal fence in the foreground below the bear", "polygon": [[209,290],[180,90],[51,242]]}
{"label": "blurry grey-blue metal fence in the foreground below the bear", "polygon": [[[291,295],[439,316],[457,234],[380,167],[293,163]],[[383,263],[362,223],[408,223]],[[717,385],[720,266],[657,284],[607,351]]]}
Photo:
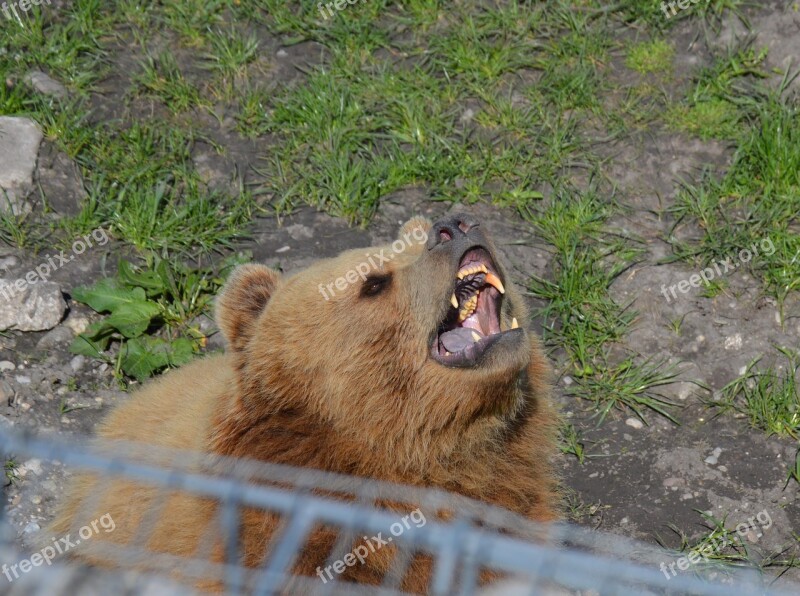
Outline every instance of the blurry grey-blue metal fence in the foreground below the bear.
{"label": "blurry grey-blue metal fence in the foreground below the bear", "polygon": [[[192,593],[199,581],[222,582],[230,594],[401,594],[401,580],[419,554],[433,562],[428,591],[435,595],[800,593],[787,588],[768,590],[766,578],[733,568],[716,569],[715,582],[702,579],[704,574],[697,570],[667,579],[659,565],[674,561],[680,556],[676,553],[569,524],[534,524],[443,491],[136,445],[68,443],[9,430],[0,431],[0,452],[18,460],[58,461],[72,472],[96,474],[102,486],[119,480],[148,485],[158,489],[160,504],[142,520],[134,540],[97,543],[99,554],[93,557],[102,556],[115,571],[82,567],[65,556],[14,582],[9,588],[14,594],[105,594],[109,586],[114,586],[115,594],[181,594]],[[86,499],[85,511],[100,502],[102,486]],[[214,563],[200,555],[175,557],[146,548],[160,506],[175,491],[219,503],[217,528],[224,537],[225,562]],[[394,509],[379,505],[387,501]],[[390,532],[398,523],[399,503],[407,504],[409,511],[418,510],[425,522],[406,523],[399,534]],[[244,508],[275,513],[281,519],[258,568],[239,564]],[[331,566],[351,552],[359,536],[391,534],[395,554],[382,584],[356,585],[330,573],[327,577],[294,576],[296,556],[320,525],[337,532],[328,557]],[[0,534],[0,563],[30,556],[24,554],[30,550],[20,550],[16,533],[8,526]],[[176,570],[182,584],[176,583]],[[498,572],[504,579],[481,586],[481,570]],[[0,576],[0,594],[5,582]]]}

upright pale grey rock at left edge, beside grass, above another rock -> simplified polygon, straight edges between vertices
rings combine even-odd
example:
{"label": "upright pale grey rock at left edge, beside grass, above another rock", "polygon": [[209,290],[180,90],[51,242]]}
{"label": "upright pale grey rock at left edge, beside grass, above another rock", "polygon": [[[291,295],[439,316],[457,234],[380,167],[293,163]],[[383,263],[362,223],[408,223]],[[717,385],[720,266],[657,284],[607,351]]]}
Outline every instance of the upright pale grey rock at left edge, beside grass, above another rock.
{"label": "upright pale grey rock at left edge, beside grass, above another rock", "polygon": [[25,198],[33,190],[33,170],[42,131],[30,118],[0,116],[0,211],[29,210]]}

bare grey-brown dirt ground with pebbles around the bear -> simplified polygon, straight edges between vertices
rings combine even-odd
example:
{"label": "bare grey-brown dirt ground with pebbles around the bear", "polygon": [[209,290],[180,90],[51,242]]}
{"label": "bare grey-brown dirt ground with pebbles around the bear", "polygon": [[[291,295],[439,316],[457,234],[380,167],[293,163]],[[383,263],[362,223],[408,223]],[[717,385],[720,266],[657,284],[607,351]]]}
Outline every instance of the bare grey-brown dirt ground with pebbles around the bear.
{"label": "bare grey-brown dirt ground with pebbles around the bear", "polygon": [[[800,56],[800,13],[787,8],[787,3],[758,4],[748,8],[752,31],[757,33],[756,44],[769,47],[770,66],[785,68]],[[722,44],[737,33],[741,35],[740,29],[738,19],[728,18],[713,43]],[[672,30],[670,39],[676,49],[674,78],[682,84],[683,76],[688,77],[698,64],[709,59],[709,48],[698,23],[691,19]],[[306,67],[319,58],[311,42],[282,47],[278,39],[266,33],[262,48],[274,58],[277,68],[273,76],[278,80],[300,76],[297,67]],[[620,72],[614,76],[624,87],[625,77],[630,75]],[[98,119],[113,113],[118,100],[113,75],[103,81],[101,91],[97,95]],[[255,178],[253,168],[258,167],[271,144],[279,142],[270,135],[244,141],[233,131],[230,118],[207,124],[213,132],[212,140],[228,151],[220,156],[199,144],[193,159],[212,183],[219,185],[224,186],[235,171],[244,173],[245,180]],[[615,301],[630,303],[631,311],[638,313],[617,349],[632,351],[642,359],[666,359],[677,366],[678,377],[659,387],[658,393],[677,404],[673,413],[679,424],[654,414],[648,414],[643,423],[630,411],[616,408],[598,423],[596,411],[568,393],[574,383],[573,372],[564,351],[550,345],[557,371],[555,397],[565,418],[579,431],[585,448],[583,461],[563,453],[557,465],[565,487],[565,512],[576,523],[649,543],[663,540],[666,546],[679,548],[680,535],[670,527],[690,539],[707,535],[700,512],[726,518],[726,526],[733,527],[767,510],[773,521],[771,527],[761,536],[748,536],[754,553],[766,555],[785,549],[796,553],[800,486],[787,482],[796,441],[767,436],[752,428],[742,415],[715,416],[708,402],[718,398],[721,389],[743,374],[754,359],[766,355],[765,361],[770,362],[775,345],[798,347],[800,300],[796,293],[787,298],[782,320],[776,300],[765,294],[746,267],[726,274],[727,287],[714,297],[701,295],[697,288],[669,298],[664,294],[664,288],[699,273],[686,262],[665,262],[672,253],[667,240],[671,233],[685,238],[699,233],[691,225],[673,231],[675,222],[667,209],[674,204],[684,180],[697,179],[709,167],[723,172],[734,149],[723,141],[702,141],[665,128],[647,128],[601,146],[600,153],[607,160],[605,175],[624,206],[622,214],[607,225],[614,233],[633,239],[640,249],[610,288]],[[47,139],[39,151],[34,179],[48,196],[58,197],[59,202],[52,205],[57,212],[69,213],[81,197],[79,172]],[[455,210],[480,218],[497,239],[514,281],[526,292],[531,276],[550,275],[551,248],[515,209],[486,203],[434,202],[422,188],[384,197],[376,216],[363,229],[310,207],[300,207],[280,221],[259,217],[249,227],[250,239],[236,248],[252,251],[257,262],[291,273],[343,249],[387,241],[412,215],[435,219]],[[54,273],[51,281],[61,287],[68,311],[53,330],[0,335],[0,432],[15,427],[45,435],[91,435],[108,410],[128,398],[113,367],[75,356],[68,346],[76,332],[100,318],[73,300],[71,292],[113,275],[117,256],[129,250],[112,242],[87,251]],[[0,273],[4,278],[24,276],[40,262],[40,253],[0,245]],[[534,296],[530,301],[534,311],[543,306]],[[671,327],[676,320],[682,321],[677,332]],[[540,318],[532,324],[542,330]],[[213,322],[209,319],[203,326],[211,329]],[[218,336],[212,336],[207,349],[220,346]],[[50,519],[65,475],[62,467],[50,462],[16,464],[16,479],[5,488],[6,506],[25,544]],[[781,581],[800,580],[797,569],[779,571],[786,571]]]}

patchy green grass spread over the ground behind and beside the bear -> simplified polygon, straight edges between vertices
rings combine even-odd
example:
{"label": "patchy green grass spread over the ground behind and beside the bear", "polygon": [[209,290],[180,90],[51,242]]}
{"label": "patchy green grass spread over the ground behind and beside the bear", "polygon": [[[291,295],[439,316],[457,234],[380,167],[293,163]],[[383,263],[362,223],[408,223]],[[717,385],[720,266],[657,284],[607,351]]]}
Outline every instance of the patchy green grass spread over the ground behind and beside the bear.
{"label": "patchy green grass spread over the ground behind and beside the bear", "polygon": [[[102,226],[121,249],[153,262],[230,250],[256,213],[300,205],[366,225],[381,201],[406,189],[432,201],[490,202],[519,213],[552,251],[530,290],[542,301],[548,345],[575,379],[570,392],[599,420],[615,409],[673,417],[659,387],[675,371],[624,348],[637,313],[612,298],[611,285],[640,248],[608,229],[624,208],[599,175],[601,147],[646,130],[662,112],[675,130],[741,141],[725,179],[709,175],[682,193],[672,214],[700,240],[673,238],[675,258],[717,258],[775,218],[775,255],[753,266],[785,296],[800,267],[791,259],[800,250],[792,235],[798,144],[794,104],[752,84],[764,55],[749,47],[720,55],[670,106],[666,30],[690,16],[718,23],[740,3],[711,0],[673,19],[660,5],[373,0],[330,19],[310,0],[36,9],[25,27],[0,30],[0,76],[18,81],[41,69],[70,98],[0,86],[0,113],[39,122],[78,165],[86,198],[51,229],[5,217],[0,234],[35,243]],[[647,41],[626,47],[616,32]],[[273,76],[284,67],[270,55],[276,44],[261,41],[270,35],[301,52],[291,81]],[[616,85],[620,58],[644,75],[625,92]],[[109,77],[122,97],[96,93]],[[227,157],[255,143],[262,159],[240,173],[253,184],[198,172],[200,147]],[[718,295],[722,283],[706,294]]]}

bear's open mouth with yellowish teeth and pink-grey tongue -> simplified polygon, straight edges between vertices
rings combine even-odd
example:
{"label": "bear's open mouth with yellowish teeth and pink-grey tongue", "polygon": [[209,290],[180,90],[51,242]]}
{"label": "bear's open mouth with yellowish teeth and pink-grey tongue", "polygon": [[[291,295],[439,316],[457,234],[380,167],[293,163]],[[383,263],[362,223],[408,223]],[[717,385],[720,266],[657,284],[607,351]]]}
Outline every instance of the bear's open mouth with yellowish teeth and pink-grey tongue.
{"label": "bear's open mouth with yellowish teeth and pink-grey tongue", "polygon": [[497,267],[484,248],[468,250],[456,272],[450,308],[436,332],[431,355],[448,366],[472,366],[504,333],[517,329],[500,328],[500,309],[505,288]]}

